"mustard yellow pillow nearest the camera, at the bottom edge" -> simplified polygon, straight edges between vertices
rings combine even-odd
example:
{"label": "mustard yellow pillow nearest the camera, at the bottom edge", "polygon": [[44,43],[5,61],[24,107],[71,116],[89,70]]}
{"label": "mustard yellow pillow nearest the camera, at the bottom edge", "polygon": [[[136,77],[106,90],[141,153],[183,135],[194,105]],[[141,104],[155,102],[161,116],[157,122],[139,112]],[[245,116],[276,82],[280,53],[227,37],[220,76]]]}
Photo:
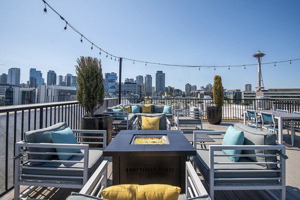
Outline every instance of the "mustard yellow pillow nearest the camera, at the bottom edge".
{"label": "mustard yellow pillow nearest the camera, at the bottom edge", "polygon": [[106,200],[178,200],[181,189],[164,184],[116,185],[105,188],[101,195]]}

